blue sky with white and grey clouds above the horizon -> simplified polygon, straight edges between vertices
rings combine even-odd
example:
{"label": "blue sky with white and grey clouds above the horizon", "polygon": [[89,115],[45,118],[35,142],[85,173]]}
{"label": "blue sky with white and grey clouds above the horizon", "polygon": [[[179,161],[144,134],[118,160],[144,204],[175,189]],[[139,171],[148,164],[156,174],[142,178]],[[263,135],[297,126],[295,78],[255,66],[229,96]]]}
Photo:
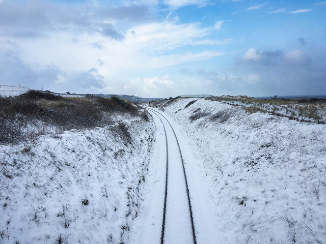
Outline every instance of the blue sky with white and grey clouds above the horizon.
{"label": "blue sky with white and grey clouds above the horizon", "polygon": [[0,0],[0,84],[70,93],[326,94],[326,1]]}

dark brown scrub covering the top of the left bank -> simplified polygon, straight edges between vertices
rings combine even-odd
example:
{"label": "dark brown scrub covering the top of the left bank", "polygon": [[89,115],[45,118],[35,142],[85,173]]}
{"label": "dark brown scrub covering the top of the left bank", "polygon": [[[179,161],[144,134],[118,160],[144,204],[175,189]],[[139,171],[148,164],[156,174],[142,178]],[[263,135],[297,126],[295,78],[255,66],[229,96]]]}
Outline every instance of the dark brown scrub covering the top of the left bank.
{"label": "dark brown scrub covering the top of the left bank", "polygon": [[[36,125],[41,121],[60,130],[86,129],[107,125],[110,121],[106,115],[113,112],[140,116],[149,121],[146,112],[139,112],[137,106],[118,97],[64,98],[37,90],[29,90],[14,98],[0,97],[0,143],[26,138],[21,129],[29,123]],[[43,132],[47,134],[47,130]]]}

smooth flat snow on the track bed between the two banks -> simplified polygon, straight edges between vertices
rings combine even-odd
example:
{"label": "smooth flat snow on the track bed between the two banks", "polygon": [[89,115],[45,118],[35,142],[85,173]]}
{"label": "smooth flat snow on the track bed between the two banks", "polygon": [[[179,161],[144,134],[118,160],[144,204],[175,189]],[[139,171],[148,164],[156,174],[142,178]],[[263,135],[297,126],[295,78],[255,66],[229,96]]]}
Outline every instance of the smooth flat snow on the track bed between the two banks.
{"label": "smooth flat snow on the track bed between the two banks", "polygon": [[[151,112],[152,113],[152,112]],[[157,125],[157,140],[154,159],[150,168],[147,198],[144,201],[140,218],[135,222],[132,232],[138,236],[136,243],[159,243],[163,201],[165,189],[165,134],[160,120],[153,114]],[[165,229],[165,243],[193,243],[191,223],[186,199],[185,181],[179,150],[174,134],[167,121],[161,117],[167,129],[169,143],[168,199]],[[185,163],[189,194],[194,213],[194,225],[198,243],[216,243],[219,235],[215,230],[218,219],[212,215],[213,199],[208,193],[208,186],[203,180],[202,168],[192,156],[192,150],[180,134],[180,128],[169,119],[177,135],[182,157]]]}

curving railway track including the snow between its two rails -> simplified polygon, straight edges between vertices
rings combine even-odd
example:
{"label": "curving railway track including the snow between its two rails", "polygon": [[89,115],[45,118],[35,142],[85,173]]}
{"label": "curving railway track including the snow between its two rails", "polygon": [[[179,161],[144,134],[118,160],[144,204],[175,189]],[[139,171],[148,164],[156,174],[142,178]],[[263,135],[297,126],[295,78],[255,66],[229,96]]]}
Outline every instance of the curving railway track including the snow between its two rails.
{"label": "curving railway track including the snow between its two rails", "polygon": [[[166,137],[166,182],[160,243],[196,244],[197,240],[192,204],[189,197],[187,176],[178,138],[169,120],[164,115],[151,108],[146,107],[146,109],[160,119]],[[167,133],[165,123],[161,118],[163,118],[171,128],[170,135]],[[172,152],[170,154],[168,146],[169,141],[170,144],[177,147],[177,151],[174,150],[174,153]],[[169,158],[171,161],[170,167]]]}

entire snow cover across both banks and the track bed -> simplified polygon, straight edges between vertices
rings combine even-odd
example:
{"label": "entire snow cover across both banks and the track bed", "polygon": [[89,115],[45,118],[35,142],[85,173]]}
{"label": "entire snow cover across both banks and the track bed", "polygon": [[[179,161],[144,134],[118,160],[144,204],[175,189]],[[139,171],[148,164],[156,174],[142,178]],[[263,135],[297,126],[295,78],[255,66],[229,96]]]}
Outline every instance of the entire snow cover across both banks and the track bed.
{"label": "entire snow cover across both banks and the track bed", "polygon": [[[205,99],[156,106],[180,144],[198,244],[326,243],[326,125]],[[0,243],[159,243],[166,144],[151,114],[89,130],[35,124],[26,135],[47,133],[0,145]],[[165,240],[192,243],[180,156],[161,119]]]}

